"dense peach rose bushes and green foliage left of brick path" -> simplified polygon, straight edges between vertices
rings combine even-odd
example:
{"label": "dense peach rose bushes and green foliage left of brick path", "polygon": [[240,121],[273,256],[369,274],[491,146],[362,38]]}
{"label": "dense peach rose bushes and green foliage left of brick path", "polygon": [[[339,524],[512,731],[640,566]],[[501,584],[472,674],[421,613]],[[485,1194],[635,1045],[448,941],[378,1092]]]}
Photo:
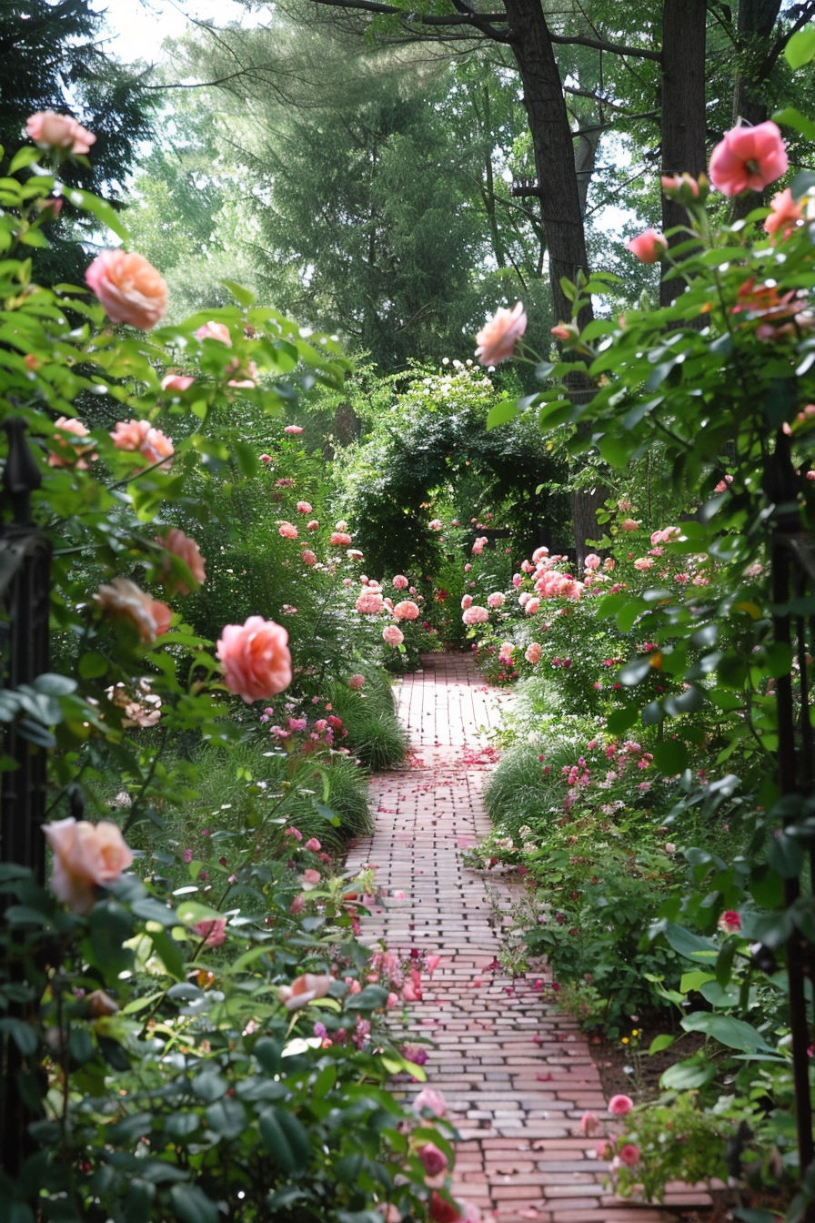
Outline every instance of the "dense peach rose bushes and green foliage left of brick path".
{"label": "dense peach rose bushes and green foliage left of brick path", "polygon": [[[281,515],[249,560],[233,512],[265,481],[312,521],[275,500],[313,467],[282,422],[347,362],[237,285],[233,306],[160,325],[166,285],[125,247],[87,286],[38,284],[26,254],[64,198],[127,232],[64,185],[93,133],[50,113],[29,133],[0,183],[4,488],[16,530],[53,552],[54,649],[0,701],[4,1211],[463,1217],[444,1101],[407,1108],[385,1087],[424,1077],[398,1016],[436,960],[364,948],[359,916],[387,903],[376,863],[349,878],[329,852],[368,827],[357,762],[403,755],[381,663],[419,608],[391,612],[345,523],[298,542]],[[318,539],[319,555],[303,547]],[[274,592],[257,565],[281,575]],[[277,623],[294,588],[299,637]],[[12,662],[29,627],[11,621]],[[34,826],[15,861],[7,816],[31,819],[16,781],[32,759],[45,838]]]}

